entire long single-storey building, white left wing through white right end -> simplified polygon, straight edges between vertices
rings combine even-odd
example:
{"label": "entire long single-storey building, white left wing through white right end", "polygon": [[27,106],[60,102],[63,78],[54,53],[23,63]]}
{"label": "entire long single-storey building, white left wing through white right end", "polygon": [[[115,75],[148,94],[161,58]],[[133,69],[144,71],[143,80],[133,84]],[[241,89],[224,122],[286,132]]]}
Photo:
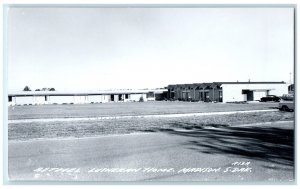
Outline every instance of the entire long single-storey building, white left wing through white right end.
{"label": "entire long single-storey building, white left wing through white right end", "polygon": [[[291,88],[291,87],[290,87]],[[258,101],[267,95],[289,93],[285,82],[212,82],[169,85],[164,89],[96,92],[20,91],[8,95],[9,105],[84,104],[180,100],[203,102]]]}

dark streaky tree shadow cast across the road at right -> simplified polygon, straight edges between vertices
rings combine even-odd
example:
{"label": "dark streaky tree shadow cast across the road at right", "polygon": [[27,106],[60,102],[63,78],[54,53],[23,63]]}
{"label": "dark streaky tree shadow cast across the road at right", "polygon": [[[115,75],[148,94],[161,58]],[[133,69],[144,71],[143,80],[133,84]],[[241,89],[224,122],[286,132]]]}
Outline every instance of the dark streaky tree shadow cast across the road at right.
{"label": "dark streaky tree shadow cast across the road at right", "polygon": [[[294,167],[294,130],[273,127],[229,127],[176,122],[174,128],[154,129],[189,137],[189,149],[207,154],[224,154]],[[275,167],[274,167],[275,169]]]}

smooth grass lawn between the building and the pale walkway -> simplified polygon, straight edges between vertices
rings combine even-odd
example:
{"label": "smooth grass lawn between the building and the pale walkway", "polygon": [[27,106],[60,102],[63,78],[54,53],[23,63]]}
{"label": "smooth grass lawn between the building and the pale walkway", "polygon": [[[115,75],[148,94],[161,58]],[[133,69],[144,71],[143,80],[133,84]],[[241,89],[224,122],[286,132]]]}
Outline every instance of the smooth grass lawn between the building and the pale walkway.
{"label": "smooth grass lawn between the building and the pale walkway", "polygon": [[122,115],[156,115],[176,113],[223,112],[277,108],[278,103],[197,103],[197,102],[126,102],[103,104],[68,104],[10,106],[8,119],[78,118]]}

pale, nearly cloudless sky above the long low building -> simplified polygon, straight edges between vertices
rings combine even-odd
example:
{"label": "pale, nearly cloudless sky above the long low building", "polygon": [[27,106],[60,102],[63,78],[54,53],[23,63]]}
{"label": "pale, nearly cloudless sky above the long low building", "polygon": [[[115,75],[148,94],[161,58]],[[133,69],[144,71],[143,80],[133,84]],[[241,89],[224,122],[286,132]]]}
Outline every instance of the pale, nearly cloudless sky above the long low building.
{"label": "pale, nearly cloudless sky above the long low building", "polygon": [[8,91],[290,81],[292,8],[11,7]]}

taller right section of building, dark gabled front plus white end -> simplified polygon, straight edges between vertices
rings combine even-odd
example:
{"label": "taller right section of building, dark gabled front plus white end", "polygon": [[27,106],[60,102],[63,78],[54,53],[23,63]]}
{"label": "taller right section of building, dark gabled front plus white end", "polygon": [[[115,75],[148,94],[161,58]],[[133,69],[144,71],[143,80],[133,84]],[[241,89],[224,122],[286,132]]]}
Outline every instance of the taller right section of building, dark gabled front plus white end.
{"label": "taller right section of building, dark gabled front plus white end", "polygon": [[258,101],[267,95],[288,94],[288,85],[283,81],[176,84],[167,89],[169,99],[204,102]]}

